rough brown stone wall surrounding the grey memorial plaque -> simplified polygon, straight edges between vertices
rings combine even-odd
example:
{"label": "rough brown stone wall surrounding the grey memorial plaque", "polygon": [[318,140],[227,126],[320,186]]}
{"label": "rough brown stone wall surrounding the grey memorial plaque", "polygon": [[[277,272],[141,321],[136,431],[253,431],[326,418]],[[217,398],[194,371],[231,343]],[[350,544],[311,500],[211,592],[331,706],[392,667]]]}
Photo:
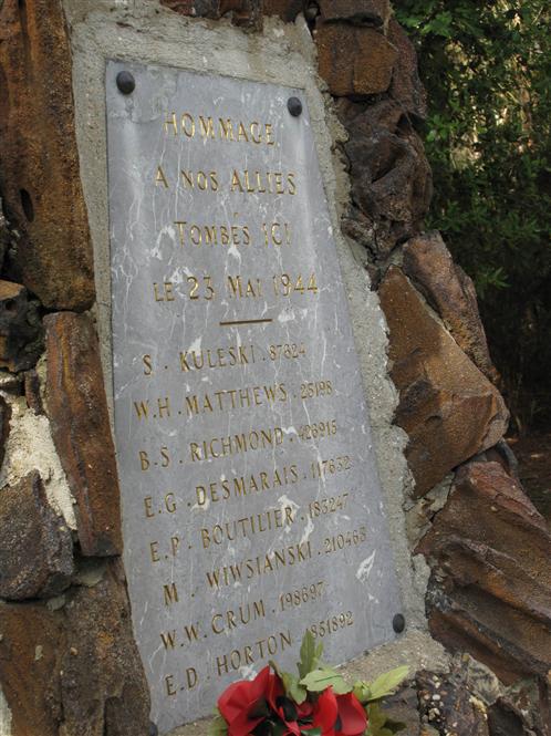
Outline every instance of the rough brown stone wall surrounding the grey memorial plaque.
{"label": "rough brown stone wall surrounding the grey memorial plaque", "polygon": [[[426,101],[389,3],[83,1],[70,23],[100,4],[119,13],[121,28],[155,12],[191,31],[232,23],[245,43],[279,17],[283,32],[300,25],[312,35],[328,110],[346,132],[334,135],[342,230],[386,315],[399,392],[395,426],[375,422],[375,435],[380,445],[407,440],[399,500],[412,569],[401,576],[426,572],[428,628],[455,653],[447,672],[428,663],[417,672],[394,708],[408,734],[549,736],[551,537],[502,439],[508,412],[472,283],[440,236],[423,229]],[[148,732],[119,561],[70,23],[59,0],[0,4],[2,736]],[[373,413],[376,391],[370,396]],[[380,457],[385,485],[388,456]],[[423,630],[410,610],[407,623]]]}

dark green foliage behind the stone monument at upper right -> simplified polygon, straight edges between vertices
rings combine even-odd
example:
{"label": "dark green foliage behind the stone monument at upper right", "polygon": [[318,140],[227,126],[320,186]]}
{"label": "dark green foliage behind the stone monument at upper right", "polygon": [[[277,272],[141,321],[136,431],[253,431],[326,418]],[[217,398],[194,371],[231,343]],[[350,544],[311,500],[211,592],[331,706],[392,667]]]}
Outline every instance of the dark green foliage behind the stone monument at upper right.
{"label": "dark green foliage behind the stone monument at upper right", "polygon": [[522,428],[534,394],[551,396],[551,3],[394,7],[428,92],[435,196],[427,225],[475,280]]}

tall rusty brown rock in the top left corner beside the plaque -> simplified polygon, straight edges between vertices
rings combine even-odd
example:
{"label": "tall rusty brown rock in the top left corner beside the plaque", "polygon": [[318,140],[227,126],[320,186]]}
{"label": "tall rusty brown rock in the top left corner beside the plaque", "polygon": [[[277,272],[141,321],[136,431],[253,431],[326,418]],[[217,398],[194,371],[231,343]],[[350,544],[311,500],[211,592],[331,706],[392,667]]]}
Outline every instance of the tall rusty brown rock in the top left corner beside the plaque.
{"label": "tall rusty brown rock in the top left corner beside the plaque", "polygon": [[94,301],[71,51],[58,0],[0,4],[0,189],[22,237],[11,272],[49,308]]}

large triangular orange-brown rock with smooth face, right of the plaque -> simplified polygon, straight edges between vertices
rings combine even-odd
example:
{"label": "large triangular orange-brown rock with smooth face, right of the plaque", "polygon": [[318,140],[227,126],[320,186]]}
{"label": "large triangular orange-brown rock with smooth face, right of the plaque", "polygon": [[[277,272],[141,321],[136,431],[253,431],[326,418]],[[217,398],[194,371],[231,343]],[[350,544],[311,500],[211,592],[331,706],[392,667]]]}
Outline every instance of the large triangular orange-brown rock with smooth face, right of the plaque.
{"label": "large triangular orange-brown rock with smooth face, right of the plaque", "polygon": [[409,437],[406,456],[422,496],[495,445],[508,412],[398,268],[388,270],[380,298],[389,328],[391,375],[401,394],[396,422]]}

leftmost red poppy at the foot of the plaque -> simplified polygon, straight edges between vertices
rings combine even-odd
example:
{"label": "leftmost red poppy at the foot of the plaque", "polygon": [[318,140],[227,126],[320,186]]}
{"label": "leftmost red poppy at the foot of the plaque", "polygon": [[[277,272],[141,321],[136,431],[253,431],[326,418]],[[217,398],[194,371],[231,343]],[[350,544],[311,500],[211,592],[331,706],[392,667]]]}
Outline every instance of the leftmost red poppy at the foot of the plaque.
{"label": "leftmost red poppy at the foot of the plaque", "polygon": [[228,724],[229,736],[247,736],[270,714],[268,696],[274,687],[270,667],[261,670],[254,680],[241,680],[227,687],[218,698],[218,709]]}

